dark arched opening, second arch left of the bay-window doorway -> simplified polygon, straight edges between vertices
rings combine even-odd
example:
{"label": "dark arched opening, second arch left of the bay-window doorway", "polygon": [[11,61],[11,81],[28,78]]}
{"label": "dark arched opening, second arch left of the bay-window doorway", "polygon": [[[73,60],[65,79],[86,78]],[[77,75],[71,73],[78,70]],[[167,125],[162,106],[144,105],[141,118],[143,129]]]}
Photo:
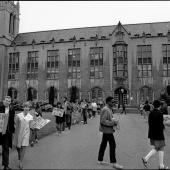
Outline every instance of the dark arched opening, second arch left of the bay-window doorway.
{"label": "dark arched opening, second arch left of the bay-window doorway", "polygon": [[71,86],[69,88],[69,99],[70,99],[70,102],[73,102],[75,103],[76,102],[76,99],[79,100],[80,98],[80,92],[79,92],[79,88],[77,86]]}

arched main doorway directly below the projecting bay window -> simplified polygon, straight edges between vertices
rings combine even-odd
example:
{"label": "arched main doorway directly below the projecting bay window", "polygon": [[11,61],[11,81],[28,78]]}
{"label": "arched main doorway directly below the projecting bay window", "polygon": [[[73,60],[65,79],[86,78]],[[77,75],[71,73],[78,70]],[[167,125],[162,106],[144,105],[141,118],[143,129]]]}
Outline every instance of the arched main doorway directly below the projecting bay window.
{"label": "arched main doorway directly below the projecting bay window", "polygon": [[127,90],[119,87],[114,91],[114,100],[116,104],[127,104]]}

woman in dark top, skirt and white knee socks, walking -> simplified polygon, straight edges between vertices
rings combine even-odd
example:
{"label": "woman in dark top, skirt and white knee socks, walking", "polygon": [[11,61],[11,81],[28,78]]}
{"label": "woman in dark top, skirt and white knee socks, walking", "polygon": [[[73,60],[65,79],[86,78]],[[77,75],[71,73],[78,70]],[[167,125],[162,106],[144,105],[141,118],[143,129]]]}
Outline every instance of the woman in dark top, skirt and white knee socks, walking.
{"label": "woman in dark top, skirt and white knee socks, walking", "polygon": [[143,164],[147,167],[147,162],[150,157],[155,153],[159,154],[159,169],[168,169],[164,165],[164,147],[165,147],[165,137],[164,137],[164,119],[163,114],[160,111],[160,101],[155,100],[153,102],[154,109],[150,112],[148,118],[149,130],[148,138],[150,139],[150,144],[154,147],[145,157],[142,158]]}

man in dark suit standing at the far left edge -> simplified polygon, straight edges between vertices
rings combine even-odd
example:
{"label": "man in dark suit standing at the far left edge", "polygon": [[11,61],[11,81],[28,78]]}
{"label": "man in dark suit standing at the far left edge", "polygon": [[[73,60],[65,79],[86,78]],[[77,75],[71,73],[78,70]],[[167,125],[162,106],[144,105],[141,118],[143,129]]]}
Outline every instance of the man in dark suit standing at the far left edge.
{"label": "man in dark suit standing at the far left edge", "polygon": [[9,148],[12,148],[12,134],[15,131],[14,117],[15,111],[11,106],[11,97],[6,96],[4,101],[0,103],[0,114],[5,115],[5,124],[0,132],[0,145],[2,145],[2,165],[4,169],[9,168]]}

